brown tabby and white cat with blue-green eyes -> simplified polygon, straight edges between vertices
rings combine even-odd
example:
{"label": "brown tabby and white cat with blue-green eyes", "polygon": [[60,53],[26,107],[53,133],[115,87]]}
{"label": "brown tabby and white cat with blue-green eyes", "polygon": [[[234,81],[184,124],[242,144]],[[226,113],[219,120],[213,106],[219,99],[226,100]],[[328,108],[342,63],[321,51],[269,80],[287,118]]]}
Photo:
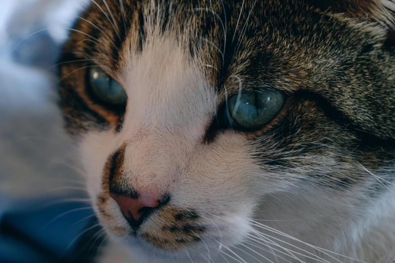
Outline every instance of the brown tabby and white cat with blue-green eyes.
{"label": "brown tabby and white cat with blue-green eyes", "polygon": [[101,262],[389,262],[394,16],[392,0],[92,0],[59,93]]}

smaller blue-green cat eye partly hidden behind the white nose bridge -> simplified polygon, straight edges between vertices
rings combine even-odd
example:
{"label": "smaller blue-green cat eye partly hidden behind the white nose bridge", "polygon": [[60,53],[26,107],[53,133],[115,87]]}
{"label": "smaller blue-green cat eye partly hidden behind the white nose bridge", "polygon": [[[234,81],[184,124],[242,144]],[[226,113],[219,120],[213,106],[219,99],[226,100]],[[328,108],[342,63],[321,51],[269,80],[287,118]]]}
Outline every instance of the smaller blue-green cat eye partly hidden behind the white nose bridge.
{"label": "smaller blue-green cat eye partly hidden behind the white nose bridge", "polygon": [[89,79],[93,92],[101,100],[115,105],[126,103],[128,95],[124,88],[99,67],[90,68]]}

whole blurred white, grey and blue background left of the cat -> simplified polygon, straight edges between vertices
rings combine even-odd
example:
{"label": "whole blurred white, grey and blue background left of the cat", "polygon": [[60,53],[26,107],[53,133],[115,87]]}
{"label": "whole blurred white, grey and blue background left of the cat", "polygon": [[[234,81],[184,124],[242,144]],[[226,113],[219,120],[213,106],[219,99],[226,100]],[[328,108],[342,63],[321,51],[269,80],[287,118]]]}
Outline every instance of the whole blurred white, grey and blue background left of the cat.
{"label": "whole blurred white, grey and blue background left of the cat", "polygon": [[85,0],[0,0],[0,262],[93,262],[105,243],[76,147],[62,129],[56,67]]}

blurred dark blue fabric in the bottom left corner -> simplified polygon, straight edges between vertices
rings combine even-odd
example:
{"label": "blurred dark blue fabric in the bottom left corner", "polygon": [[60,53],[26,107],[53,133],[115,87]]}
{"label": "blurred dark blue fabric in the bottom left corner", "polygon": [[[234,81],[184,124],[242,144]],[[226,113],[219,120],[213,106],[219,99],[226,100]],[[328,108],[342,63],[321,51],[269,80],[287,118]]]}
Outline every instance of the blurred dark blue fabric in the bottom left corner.
{"label": "blurred dark blue fabric in the bottom left corner", "polygon": [[94,260],[102,229],[94,226],[97,220],[87,203],[59,204],[67,198],[37,200],[18,212],[6,211],[0,221],[0,262]]}

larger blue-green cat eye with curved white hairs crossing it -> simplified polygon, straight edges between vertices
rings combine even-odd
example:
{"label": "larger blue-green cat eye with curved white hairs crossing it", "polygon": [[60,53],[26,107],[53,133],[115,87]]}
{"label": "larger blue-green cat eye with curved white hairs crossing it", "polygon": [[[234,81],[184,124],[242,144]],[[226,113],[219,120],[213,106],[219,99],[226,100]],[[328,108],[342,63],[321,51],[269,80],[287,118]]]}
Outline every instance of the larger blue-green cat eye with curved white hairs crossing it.
{"label": "larger blue-green cat eye with curved white hairs crossing it", "polygon": [[260,128],[273,119],[284,104],[280,91],[265,90],[234,95],[228,100],[229,114],[243,128]]}

